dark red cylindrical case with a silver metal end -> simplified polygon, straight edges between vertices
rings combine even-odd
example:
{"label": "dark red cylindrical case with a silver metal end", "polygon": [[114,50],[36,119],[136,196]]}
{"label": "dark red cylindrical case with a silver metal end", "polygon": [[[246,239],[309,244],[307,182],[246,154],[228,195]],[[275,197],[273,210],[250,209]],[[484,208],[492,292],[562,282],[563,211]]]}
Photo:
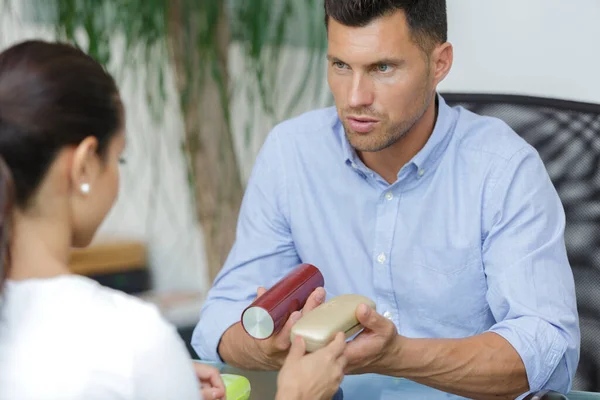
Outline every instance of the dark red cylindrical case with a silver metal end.
{"label": "dark red cylindrical case with a silver metal end", "polygon": [[255,339],[268,339],[283,328],[294,311],[304,307],[316,288],[324,284],[317,267],[298,265],[242,312],[242,327]]}

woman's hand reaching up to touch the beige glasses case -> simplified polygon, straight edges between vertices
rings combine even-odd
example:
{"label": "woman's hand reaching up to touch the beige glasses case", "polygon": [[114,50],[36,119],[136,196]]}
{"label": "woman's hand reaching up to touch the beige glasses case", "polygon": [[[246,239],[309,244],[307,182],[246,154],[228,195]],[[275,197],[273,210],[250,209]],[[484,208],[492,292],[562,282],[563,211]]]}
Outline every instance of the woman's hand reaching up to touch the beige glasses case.
{"label": "woman's hand reaching up to touch the beige glasses case", "polygon": [[331,400],[344,378],[346,341],[343,333],[311,354],[296,337],[277,378],[277,399]]}

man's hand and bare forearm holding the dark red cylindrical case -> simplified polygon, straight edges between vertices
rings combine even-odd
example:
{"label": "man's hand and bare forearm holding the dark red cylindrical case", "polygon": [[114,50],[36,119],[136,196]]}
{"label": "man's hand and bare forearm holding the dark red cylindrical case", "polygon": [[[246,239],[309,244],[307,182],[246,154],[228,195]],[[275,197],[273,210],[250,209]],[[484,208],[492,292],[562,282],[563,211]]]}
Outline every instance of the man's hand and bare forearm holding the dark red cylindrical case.
{"label": "man's hand and bare forearm holding the dark red cylindrical case", "polygon": [[[258,288],[257,297],[265,294]],[[269,339],[256,340],[250,337],[238,322],[225,331],[219,343],[219,355],[229,365],[256,370],[278,370],[283,365],[290,348],[292,326],[302,317],[325,301],[325,289],[315,289],[306,300],[302,311],[290,315],[280,332]]]}

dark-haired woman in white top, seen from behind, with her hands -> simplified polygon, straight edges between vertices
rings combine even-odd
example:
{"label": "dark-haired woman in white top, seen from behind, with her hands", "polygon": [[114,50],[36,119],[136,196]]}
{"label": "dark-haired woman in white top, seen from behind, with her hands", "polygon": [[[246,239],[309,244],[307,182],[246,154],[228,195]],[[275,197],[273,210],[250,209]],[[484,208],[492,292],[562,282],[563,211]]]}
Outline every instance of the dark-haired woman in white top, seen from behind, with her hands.
{"label": "dark-haired woman in white top, seen from behind, with her hands", "polygon": [[[69,271],[117,197],[124,121],[112,77],[74,47],[0,53],[0,399],[224,397],[156,308]],[[294,343],[278,398],[330,398],[343,348]]]}

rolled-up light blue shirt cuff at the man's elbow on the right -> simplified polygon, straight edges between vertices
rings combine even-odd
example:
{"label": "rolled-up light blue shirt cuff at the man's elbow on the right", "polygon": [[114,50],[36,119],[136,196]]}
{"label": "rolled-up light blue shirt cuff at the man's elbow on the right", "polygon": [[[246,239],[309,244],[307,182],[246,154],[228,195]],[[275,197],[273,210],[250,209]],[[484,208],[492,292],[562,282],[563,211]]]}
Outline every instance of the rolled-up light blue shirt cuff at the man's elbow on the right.
{"label": "rolled-up light blue shirt cuff at the man's elbow on the right", "polygon": [[544,389],[567,350],[567,341],[558,330],[537,317],[501,321],[489,331],[502,336],[517,351],[525,365],[530,392]]}

